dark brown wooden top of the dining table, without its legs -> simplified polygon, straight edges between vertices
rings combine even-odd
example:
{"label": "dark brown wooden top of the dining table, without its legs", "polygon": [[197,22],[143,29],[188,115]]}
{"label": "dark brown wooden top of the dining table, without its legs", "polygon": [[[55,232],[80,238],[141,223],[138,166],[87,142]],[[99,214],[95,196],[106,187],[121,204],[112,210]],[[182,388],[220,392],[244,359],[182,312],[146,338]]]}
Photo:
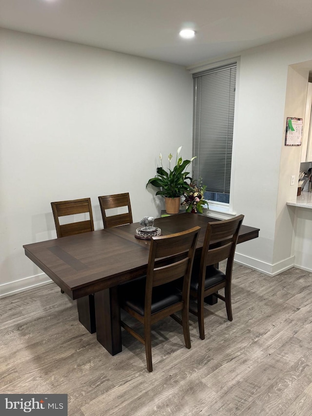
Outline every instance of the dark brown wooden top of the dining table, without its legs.
{"label": "dark brown wooden top of the dining table, without its legs", "polygon": [[[207,223],[217,218],[183,213],[156,218],[162,235],[201,227],[196,251],[203,246]],[[146,273],[150,241],[135,238],[139,223],[24,245],[25,255],[72,299],[90,295]],[[257,238],[259,229],[242,225],[238,243]]]}

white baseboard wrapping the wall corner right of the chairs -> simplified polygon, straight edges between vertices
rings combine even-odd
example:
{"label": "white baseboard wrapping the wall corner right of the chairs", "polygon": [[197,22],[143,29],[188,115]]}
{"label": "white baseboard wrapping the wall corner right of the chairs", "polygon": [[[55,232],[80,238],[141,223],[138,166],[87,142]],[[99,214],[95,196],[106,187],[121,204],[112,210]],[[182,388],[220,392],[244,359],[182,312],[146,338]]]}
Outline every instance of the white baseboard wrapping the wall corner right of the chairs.
{"label": "white baseboard wrapping the wall corner right of the chairs", "polygon": [[297,267],[294,264],[294,256],[286,258],[275,264],[266,263],[265,261],[257,260],[256,258],[244,256],[243,254],[238,253],[235,254],[234,259],[236,263],[241,264],[242,266],[249,267],[257,272],[272,277],[284,272],[285,270],[291,269],[292,267]]}

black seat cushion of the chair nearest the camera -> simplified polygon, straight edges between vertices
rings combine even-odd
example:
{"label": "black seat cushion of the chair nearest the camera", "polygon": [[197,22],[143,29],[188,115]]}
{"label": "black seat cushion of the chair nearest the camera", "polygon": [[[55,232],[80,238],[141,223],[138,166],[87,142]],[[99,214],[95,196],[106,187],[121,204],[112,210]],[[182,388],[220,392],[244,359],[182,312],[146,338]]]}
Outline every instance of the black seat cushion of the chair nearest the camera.
{"label": "black seat cushion of the chair nearest the camera", "polygon": [[[119,286],[120,306],[127,305],[142,317],[144,316],[146,276]],[[180,290],[174,283],[153,287],[152,314],[182,300]]]}

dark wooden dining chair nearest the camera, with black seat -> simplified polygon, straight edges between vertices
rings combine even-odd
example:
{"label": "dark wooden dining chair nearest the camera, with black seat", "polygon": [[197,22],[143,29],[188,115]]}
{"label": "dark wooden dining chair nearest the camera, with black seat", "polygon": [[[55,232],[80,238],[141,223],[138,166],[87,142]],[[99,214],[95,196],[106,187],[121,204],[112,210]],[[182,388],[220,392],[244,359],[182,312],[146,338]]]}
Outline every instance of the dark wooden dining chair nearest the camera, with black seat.
{"label": "dark wooden dining chair nearest the camera, with black seat", "polygon": [[[183,327],[186,348],[189,328],[190,277],[200,227],[151,240],[147,275],[119,286],[120,307],[144,325],[144,337],[121,321],[121,326],[145,345],[147,369],[153,371],[151,325],[171,316]],[[156,260],[159,261],[156,261]],[[176,280],[183,279],[182,291]],[[182,319],[175,313],[181,311]]]}

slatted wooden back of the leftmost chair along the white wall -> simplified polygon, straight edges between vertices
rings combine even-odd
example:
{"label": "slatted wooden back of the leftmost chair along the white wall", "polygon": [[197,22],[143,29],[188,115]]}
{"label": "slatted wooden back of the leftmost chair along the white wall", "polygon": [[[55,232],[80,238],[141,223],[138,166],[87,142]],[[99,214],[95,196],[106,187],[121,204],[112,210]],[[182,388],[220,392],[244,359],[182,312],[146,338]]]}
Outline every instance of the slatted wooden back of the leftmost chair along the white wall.
{"label": "slatted wooden back of the leftmost chair along the white wall", "polygon": [[[58,238],[94,231],[90,198],[51,202],[51,207]],[[83,213],[89,213],[89,219],[62,225],[59,223],[59,217]]]}

